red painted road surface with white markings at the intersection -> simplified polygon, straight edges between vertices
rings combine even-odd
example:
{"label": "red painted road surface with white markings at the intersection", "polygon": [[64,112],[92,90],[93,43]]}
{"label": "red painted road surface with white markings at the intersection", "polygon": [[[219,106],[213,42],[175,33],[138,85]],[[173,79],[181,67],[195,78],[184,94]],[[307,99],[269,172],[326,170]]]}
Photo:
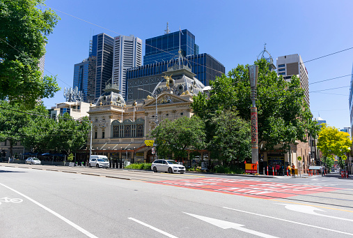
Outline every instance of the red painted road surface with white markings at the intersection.
{"label": "red painted road surface with white markings at the intersection", "polygon": [[264,181],[219,178],[167,180],[151,183],[265,199],[289,198],[295,195],[329,192],[340,189],[299,184],[283,184]]}

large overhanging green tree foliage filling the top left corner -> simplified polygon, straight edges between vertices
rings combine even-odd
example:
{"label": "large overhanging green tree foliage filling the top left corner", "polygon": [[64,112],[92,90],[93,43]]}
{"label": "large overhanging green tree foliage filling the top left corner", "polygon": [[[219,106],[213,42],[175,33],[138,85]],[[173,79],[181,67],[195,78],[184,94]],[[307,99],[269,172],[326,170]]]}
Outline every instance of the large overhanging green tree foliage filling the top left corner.
{"label": "large overhanging green tree foliage filling the top left corner", "polygon": [[44,0],[0,1],[0,100],[35,107],[60,89],[38,66],[58,19]]}

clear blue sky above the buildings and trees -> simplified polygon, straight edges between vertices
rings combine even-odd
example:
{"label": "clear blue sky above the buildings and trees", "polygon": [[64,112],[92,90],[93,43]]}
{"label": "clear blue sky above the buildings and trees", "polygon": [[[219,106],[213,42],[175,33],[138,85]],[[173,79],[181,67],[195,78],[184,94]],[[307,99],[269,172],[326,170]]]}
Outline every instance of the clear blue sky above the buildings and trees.
{"label": "clear blue sky above the buildings and trees", "polygon": [[[146,38],[164,34],[169,22],[172,32],[179,27],[191,31],[200,53],[211,54],[226,67],[226,73],[238,64],[253,64],[264,43],[275,61],[283,55],[300,54],[304,62],[309,61],[305,66],[314,117],[320,114],[329,126],[336,128],[350,126],[351,77],[340,76],[352,74],[353,49],[332,53],[353,47],[353,1],[47,0],[45,3],[58,10],[56,13],[61,17],[48,37],[45,74],[57,75],[62,88],[54,98],[44,99],[46,107],[65,101],[63,88],[72,87],[74,64],[88,57],[93,34],[104,32],[112,37],[132,34],[145,43]],[[316,59],[327,54],[332,55]],[[329,80],[334,77],[340,78]],[[328,81],[313,84],[321,80]],[[313,92],[324,89],[331,90]]]}

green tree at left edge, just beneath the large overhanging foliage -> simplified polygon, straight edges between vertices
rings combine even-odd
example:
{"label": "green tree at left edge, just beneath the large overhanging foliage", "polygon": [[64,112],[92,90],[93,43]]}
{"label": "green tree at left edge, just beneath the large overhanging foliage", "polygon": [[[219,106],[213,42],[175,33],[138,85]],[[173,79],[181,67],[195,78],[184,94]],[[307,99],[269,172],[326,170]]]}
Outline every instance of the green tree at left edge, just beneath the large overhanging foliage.
{"label": "green tree at left edge, just beneath the large overhanging foliage", "polygon": [[0,101],[0,141],[10,142],[10,156],[13,156],[13,145],[24,138],[22,128],[32,124],[40,115],[47,115],[43,105],[37,105],[29,111],[24,110],[19,103]]}

